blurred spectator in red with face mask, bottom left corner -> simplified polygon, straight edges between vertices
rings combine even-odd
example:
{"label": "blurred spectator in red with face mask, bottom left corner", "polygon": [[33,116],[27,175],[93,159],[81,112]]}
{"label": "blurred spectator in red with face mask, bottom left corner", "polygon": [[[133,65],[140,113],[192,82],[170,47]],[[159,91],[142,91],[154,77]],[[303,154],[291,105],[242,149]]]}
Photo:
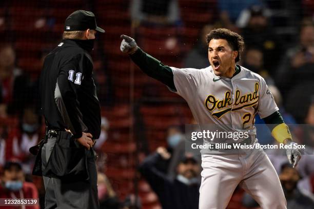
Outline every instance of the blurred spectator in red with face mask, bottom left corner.
{"label": "blurred spectator in red with face mask, bottom left corner", "polygon": [[[0,183],[0,198],[5,199],[37,199],[38,192],[35,185],[31,182],[24,181],[24,174],[21,164],[17,162],[7,162],[4,166],[4,174]],[[21,208],[21,206],[2,206],[1,208]],[[37,205],[26,206],[25,209],[39,209],[39,202]]]}

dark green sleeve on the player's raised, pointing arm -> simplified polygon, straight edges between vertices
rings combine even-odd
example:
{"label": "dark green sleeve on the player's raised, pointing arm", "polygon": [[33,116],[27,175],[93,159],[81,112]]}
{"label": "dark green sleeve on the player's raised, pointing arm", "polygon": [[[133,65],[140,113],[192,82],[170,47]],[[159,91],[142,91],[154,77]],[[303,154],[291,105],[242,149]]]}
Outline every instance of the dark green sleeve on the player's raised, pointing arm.
{"label": "dark green sleeve on the player's raised, pointing arm", "polygon": [[130,57],[133,62],[148,76],[161,81],[176,91],[171,68],[165,66],[161,61],[145,53],[140,48],[136,50],[135,53],[131,54]]}

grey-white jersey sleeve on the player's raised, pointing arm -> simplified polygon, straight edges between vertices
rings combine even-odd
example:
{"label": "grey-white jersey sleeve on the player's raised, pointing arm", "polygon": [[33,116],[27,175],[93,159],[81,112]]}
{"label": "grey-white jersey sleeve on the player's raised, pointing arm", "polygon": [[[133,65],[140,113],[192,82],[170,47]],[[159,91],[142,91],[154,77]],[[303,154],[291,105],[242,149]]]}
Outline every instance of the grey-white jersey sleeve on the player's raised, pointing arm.
{"label": "grey-white jersey sleeve on the player's raised, pointing arm", "polygon": [[185,99],[194,95],[199,88],[200,74],[198,71],[200,70],[193,68],[170,68],[173,72],[176,93]]}

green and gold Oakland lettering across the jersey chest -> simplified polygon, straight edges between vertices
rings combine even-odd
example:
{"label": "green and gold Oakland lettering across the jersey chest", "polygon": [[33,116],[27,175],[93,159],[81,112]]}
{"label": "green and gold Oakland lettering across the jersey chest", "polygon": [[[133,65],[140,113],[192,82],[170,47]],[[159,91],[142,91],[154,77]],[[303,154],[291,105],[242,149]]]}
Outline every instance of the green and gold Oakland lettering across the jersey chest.
{"label": "green and gold Oakland lettering across the jersey chest", "polygon": [[[229,111],[241,110],[242,108],[255,105],[259,100],[258,91],[259,91],[258,82],[255,83],[255,89],[251,93],[244,94],[241,96],[240,90],[235,91],[235,99],[233,102],[233,106],[238,106],[238,105],[243,105],[243,104],[244,105],[237,108],[230,107],[223,111],[212,113],[211,115],[217,118],[220,118]],[[213,95],[209,95],[205,100],[205,106],[207,110],[209,111],[213,111],[215,109],[220,110],[227,106],[232,106],[230,95],[231,95],[230,91],[226,91],[225,98],[223,100],[216,99]]]}

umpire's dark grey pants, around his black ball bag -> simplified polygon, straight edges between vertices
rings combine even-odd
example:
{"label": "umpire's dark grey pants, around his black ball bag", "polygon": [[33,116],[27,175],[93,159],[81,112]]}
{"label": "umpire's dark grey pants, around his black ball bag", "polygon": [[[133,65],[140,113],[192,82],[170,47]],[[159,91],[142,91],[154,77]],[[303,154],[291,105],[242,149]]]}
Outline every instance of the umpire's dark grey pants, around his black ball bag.
{"label": "umpire's dark grey pants, around his black ball bag", "polygon": [[[46,167],[55,141],[55,137],[48,138],[42,148],[42,168]],[[89,180],[66,182],[43,176],[46,190],[45,209],[99,209],[95,156],[92,150],[87,153]]]}

